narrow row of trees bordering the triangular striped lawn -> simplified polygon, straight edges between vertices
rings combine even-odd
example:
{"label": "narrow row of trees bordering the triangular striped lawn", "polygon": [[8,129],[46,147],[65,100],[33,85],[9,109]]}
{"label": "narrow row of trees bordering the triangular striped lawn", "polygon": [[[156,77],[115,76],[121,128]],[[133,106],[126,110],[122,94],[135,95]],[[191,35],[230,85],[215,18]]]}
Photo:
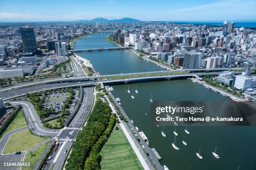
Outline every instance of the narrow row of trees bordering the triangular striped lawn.
{"label": "narrow row of trees bordering the triangular striped lawn", "polygon": [[115,127],[115,122],[116,122],[115,116],[116,116],[115,114],[111,115],[107,129],[105,130],[103,135],[100,137],[100,139],[97,141],[97,143],[95,143],[95,145],[92,147],[90,155],[85,161],[84,170],[100,170],[100,161],[101,161],[100,150],[108,141],[108,138],[110,137],[112,130]]}

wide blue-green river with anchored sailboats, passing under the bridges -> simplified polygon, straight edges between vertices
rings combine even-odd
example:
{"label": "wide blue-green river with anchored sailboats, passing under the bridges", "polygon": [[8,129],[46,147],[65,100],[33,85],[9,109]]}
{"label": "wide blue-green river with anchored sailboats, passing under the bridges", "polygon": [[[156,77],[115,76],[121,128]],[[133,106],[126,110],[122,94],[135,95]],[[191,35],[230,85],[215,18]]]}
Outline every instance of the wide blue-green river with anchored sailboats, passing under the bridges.
{"label": "wide blue-green river with anchored sailboats, passing under the bridges", "polygon": [[[106,33],[90,35],[97,39],[80,39],[74,44],[74,49],[115,47],[116,45],[104,39]],[[161,70],[161,67],[140,59],[130,50],[105,50],[95,52],[78,52],[78,55],[90,60],[101,74],[126,72],[143,72]],[[134,92],[136,89],[138,94]],[[135,100],[127,93],[128,85],[113,85],[113,95],[120,97],[122,107],[134,124],[142,130],[150,142],[151,148],[156,148],[163,158],[160,163],[170,170],[256,170],[256,127],[238,126],[189,126],[187,135],[182,126],[177,127],[176,144],[180,150],[172,148],[174,142],[173,126],[166,126],[166,138],[161,135],[162,127],[151,125],[151,93],[156,100],[229,100],[219,93],[208,90],[202,85],[190,80],[169,80],[157,82],[138,82],[130,84]],[[147,115],[145,114],[147,113]],[[187,146],[182,144],[187,142]],[[212,155],[215,146],[220,159]],[[196,156],[201,147],[200,160]]]}

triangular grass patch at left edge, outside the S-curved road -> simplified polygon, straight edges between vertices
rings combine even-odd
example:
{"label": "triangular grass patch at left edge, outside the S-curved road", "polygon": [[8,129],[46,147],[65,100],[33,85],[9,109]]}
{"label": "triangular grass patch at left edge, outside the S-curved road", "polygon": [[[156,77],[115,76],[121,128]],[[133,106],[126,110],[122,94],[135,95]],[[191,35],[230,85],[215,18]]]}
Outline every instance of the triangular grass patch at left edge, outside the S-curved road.
{"label": "triangular grass patch at left edge, outside the S-curved road", "polygon": [[10,132],[11,130],[14,129],[18,129],[21,128],[23,126],[28,125],[25,115],[23,113],[23,110],[21,109],[16,117],[14,118],[14,120],[10,123],[10,125],[8,126],[8,128],[3,132],[3,134],[1,135],[1,138],[3,137],[3,135],[5,135],[6,133]]}

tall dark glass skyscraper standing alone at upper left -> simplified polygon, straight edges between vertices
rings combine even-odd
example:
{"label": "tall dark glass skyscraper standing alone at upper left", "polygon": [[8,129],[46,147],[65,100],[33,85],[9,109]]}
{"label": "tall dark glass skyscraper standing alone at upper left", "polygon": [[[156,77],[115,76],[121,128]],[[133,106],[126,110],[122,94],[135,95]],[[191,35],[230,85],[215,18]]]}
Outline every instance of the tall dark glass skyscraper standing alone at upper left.
{"label": "tall dark glass skyscraper standing alone at upper left", "polygon": [[34,32],[34,28],[31,28],[31,27],[20,28],[20,34],[22,37],[24,51],[36,53],[37,46],[36,46],[36,35]]}

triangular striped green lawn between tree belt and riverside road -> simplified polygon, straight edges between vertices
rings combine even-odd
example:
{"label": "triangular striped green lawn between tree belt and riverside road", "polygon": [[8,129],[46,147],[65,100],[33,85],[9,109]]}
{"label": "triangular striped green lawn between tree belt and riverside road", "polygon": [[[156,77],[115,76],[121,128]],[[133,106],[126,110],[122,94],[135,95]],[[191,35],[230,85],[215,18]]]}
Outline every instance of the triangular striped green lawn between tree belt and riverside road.
{"label": "triangular striped green lawn between tree belt and riverside road", "polygon": [[120,125],[113,130],[108,142],[100,151],[102,170],[143,170]]}

